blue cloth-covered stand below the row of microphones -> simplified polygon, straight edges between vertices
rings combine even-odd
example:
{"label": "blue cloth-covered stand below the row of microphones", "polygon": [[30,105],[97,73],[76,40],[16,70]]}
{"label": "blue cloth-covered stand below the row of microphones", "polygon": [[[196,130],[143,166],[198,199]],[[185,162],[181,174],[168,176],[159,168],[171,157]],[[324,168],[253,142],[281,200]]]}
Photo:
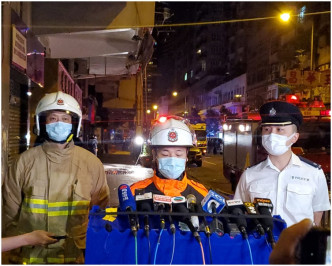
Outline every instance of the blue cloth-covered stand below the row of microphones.
{"label": "blue cloth-covered stand below the row of microphones", "polygon": [[[276,216],[275,218],[279,218]],[[273,234],[277,240],[286,224],[274,221]],[[161,234],[161,236],[160,236]],[[118,216],[114,222],[103,215],[90,212],[86,240],[86,264],[268,264],[271,246],[266,236],[255,238],[249,234],[244,240],[241,234],[230,237],[227,233],[213,233],[210,241],[199,232],[202,247],[189,231],[177,228],[175,235],[165,229],[150,230],[149,238],[143,229],[136,238],[128,227],[128,218]],[[160,236],[160,241],[158,242]],[[210,242],[210,245],[209,245]],[[202,255],[203,253],[203,255]],[[212,260],[212,261],[211,261]]]}

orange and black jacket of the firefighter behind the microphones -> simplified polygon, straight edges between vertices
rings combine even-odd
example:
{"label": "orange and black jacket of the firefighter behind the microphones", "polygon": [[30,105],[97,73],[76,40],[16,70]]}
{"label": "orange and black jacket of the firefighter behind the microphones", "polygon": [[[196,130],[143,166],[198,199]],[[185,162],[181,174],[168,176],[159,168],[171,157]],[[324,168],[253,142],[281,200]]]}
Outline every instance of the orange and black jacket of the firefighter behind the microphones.
{"label": "orange and black jacket of the firefighter behind the microphones", "polygon": [[145,193],[163,194],[170,197],[195,195],[197,202],[201,202],[207,195],[207,189],[200,183],[187,178],[185,173],[182,180],[164,179],[154,174],[153,177],[139,181],[130,187],[135,195],[135,189],[144,189]]}

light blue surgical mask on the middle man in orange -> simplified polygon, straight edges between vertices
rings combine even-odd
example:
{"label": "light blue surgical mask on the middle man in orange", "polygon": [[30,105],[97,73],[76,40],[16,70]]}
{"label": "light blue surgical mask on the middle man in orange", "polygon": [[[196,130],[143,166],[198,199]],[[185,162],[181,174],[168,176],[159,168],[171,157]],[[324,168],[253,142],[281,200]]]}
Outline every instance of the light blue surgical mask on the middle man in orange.
{"label": "light blue surgical mask on the middle man in orange", "polygon": [[186,159],[176,157],[158,158],[159,172],[169,179],[177,179],[185,168]]}

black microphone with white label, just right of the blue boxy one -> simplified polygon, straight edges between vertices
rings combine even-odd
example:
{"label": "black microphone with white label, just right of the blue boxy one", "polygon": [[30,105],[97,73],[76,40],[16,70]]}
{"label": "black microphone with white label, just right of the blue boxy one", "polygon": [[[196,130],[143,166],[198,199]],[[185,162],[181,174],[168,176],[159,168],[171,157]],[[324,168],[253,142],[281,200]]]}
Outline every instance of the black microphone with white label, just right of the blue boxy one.
{"label": "black microphone with white label, just right of the blue boxy one", "polygon": [[230,220],[234,221],[236,223],[237,227],[239,228],[239,230],[241,232],[241,235],[242,235],[243,239],[247,239],[248,238],[248,233],[247,233],[247,230],[246,230],[247,221],[243,217],[245,207],[243,205],[242,200],[239,200],[239,199],[226,200],[226,204],[227,204],[227,209],[230,212],[230,214],[238,216],[236,218],[232,217],[232,218],[230,218]]}

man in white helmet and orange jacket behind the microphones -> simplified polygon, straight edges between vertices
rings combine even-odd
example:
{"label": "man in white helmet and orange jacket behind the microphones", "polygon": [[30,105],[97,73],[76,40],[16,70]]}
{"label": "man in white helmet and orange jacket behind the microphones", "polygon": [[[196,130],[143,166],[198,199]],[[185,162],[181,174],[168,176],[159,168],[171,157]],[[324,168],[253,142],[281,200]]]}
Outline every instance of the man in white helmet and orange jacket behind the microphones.
{"label": "man in white helmet and orange jacket behind the microphones", "polygon": [[189,148],[196,141],[186,120],[177,116],[160,117],[150,135],[155,174],[133,184],[132,193],[135,194],[136,189],[144,189],[145,192],[171,197],[193,194],[197,201],[201,201],[207,189],[189,180],[185,171]]}

